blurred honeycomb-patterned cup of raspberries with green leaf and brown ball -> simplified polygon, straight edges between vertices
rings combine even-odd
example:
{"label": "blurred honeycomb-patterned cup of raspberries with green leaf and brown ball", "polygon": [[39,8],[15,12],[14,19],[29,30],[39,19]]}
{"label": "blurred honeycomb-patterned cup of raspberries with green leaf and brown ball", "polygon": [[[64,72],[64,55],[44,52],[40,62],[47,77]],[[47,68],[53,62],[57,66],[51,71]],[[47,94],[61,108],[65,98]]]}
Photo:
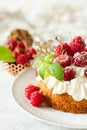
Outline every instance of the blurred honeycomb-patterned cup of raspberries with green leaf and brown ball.
{"label": "blurred honeycomb-patterned cup of raspberries with green leaf and brown ball", "polygon": [[37,53],[32,44],[33,38],[28,31],[16,29],[10,33],[6,46],[0,46],[0,60],[4,61],[8,72],[16,75],[31,65]]}

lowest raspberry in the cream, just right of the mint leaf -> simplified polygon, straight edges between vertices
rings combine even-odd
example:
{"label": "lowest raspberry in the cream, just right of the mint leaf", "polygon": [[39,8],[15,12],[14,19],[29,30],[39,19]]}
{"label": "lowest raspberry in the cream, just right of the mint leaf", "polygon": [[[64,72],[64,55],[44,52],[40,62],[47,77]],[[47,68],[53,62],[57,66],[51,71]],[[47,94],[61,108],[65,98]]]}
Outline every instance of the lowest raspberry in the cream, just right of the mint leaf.
{"label": "lowest raspberry in the cream, just right of the mint leaf", "polygon": [[70,67],[64,68],[64,80],[70,81],[71,79],[75,78],[75,71]]}

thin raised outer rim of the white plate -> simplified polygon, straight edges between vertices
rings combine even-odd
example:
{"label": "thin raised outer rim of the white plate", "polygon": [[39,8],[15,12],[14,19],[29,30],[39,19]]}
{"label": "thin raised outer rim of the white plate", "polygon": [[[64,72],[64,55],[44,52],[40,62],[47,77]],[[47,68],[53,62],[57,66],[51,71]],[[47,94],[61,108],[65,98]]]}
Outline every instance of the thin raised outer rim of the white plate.
{"label": "thin raised outer rim of the white plate", "polygon": [[[28,113],[29,115],[33,116],[34,118],[38,119],[39,121],[42,121],[44,123],[47,123],[47,124],[51,124],[51,125],[54,125],[54,126],[59,126],[59,127],[63,127],[63,128],[73,128],[73,129],[87,129],[87,126],[76,126],[76,125],[66,125],[66,124],[61,124],[61,123],[55,123],[55,122],[52,122],[52,121],[48,121],[44,118],[41,118],[39,117],[38,115],[35,115],[34,113],[32,112],[29,112],[27,111],[23,106],[21,106],[19,104],[19,102],[16,100],[15,98],[15,95],[14,95],[14,87],[15,87],[15,82],[18,80],[18,78],[23,74],[25,73],[26,71],[28,71],[29,69],[33,69],[32,67],[29,67],[29,68],[26,68],[24,70],[22,70],[14,79],[13,83],[12,83],[12,88],[11,88],[11,92],[12,92],[12,97],[15,101],[15,103],[19,106],[20,109],[22,109],[24,112]],[[33,107],[33,106],[31,106]],[[72,113],[71,113],[72,114]]]}

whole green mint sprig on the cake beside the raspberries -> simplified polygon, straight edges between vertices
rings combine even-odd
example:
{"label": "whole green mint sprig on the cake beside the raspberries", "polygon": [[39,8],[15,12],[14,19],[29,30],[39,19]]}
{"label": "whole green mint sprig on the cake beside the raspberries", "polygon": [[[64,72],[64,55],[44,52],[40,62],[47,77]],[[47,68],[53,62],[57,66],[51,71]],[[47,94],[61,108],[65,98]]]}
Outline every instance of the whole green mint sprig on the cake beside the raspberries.
{"label": "whole green mint sprig on the cake beside the raspberries", "polygon": [[58,80],[63,80],[64,78],[64,70],[63,67],[57,63],[52,62],[51,60],[54,58],[53,55],[47,55],[45,58],[39,57],[34,65],[38,68],[38,73],[42,79],[46,73],[49,73],[53,77]]}

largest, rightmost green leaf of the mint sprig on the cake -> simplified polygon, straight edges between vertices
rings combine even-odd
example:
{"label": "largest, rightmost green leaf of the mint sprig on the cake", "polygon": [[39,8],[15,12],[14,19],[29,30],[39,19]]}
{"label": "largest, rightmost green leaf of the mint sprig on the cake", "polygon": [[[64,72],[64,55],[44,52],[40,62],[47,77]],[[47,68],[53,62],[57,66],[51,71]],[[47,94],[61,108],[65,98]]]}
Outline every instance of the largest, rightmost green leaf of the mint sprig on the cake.
{"label": "largest, rightmost green leaf of the mint sprig on the cake", "polygon": [[63,68],[57,62],[53,62],[52,64],[50,64],[46,68],[46,71],[58,80],[63,80],[64,78]]}

